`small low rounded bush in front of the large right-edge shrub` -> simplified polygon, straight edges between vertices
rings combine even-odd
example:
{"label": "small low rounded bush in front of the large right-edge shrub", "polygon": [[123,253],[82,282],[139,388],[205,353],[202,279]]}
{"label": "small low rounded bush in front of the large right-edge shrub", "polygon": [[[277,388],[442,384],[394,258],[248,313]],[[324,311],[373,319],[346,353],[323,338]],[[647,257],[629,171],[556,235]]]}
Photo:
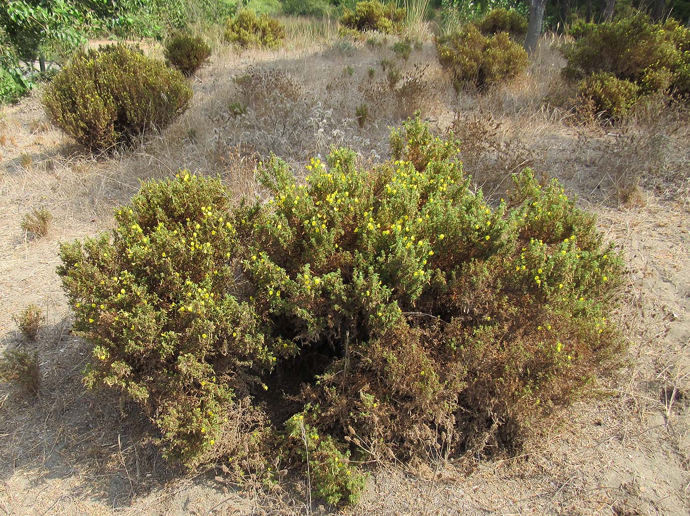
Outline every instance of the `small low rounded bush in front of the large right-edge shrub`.
{"label": "small low rounded bush in front of the large right-edge shrub", "polygon": [[615,118],[625,115],[638,100],[640,86],[618,79],[607,72],[598,72],[582,79],[578,88],[580,110]]}

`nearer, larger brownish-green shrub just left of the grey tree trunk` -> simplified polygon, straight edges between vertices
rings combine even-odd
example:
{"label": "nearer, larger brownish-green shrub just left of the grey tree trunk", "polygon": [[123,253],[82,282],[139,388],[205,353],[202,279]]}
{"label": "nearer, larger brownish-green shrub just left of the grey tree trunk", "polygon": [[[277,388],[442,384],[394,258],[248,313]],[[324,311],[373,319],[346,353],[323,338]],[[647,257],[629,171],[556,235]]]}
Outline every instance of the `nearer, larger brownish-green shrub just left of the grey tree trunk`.
{"label": "nearer, larger brownish-green shrub just left of the grey tree trunk", "polygon": [[527,66],[527,52],[508,34],[484,36],[473,25],[438,38],[436,52],[456,88],[464,84],[486,88],[517,77]]}

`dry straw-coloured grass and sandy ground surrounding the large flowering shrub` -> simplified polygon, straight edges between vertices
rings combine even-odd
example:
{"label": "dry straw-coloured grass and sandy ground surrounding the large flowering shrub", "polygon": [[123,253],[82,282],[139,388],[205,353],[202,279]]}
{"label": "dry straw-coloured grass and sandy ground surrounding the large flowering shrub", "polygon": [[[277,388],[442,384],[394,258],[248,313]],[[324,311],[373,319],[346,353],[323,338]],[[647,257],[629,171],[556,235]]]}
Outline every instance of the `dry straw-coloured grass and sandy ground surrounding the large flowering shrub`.
{"label": "dry straw-coloured grass and sandy ground surrounding the large flowering shrub", "polygon": [[[626,253],[618,324],[627,366],[595,399],[557,414],[522,455],[457,462],[382,460],[354,514],[680,515],[690,513],[690,163],[687,113],[665,99],[602,128],[544,98],[566,95],[559,41],[546,37],[526,75],[485,92],[453,90],[426,41],[408,61],[391,44],[336,39],[333,28],[288,26],[284,50],[237,53],[214,45],[193,81],[190,109],[161,135],[94,157],[45,126],[39,92],[0,112],[0,345],[28,303],[46,315],[30,347],[37,397],[0,385],[0,513],[8,515],[325,514],[304,482],[238,486],[222,468],[194,476],[166,466],[146,419],[108,393],[86,390],[88,353],[70,335],[55,275],[59,241],[112,225],[140,179],[178,168],[219,175],[237,194],[258,192],[253,170],[269,152],[291,163],[351,146],[389,155],[388,126],[415,110],[453,128],[477,186],[500,197],[511,172],[558,177]],[[160,53],[154,48],[152,52]],[[382,60],[400,72],[388,80]],[[351,67],[352,74],[344,70]],[[372,75],[369,71],[374,69]],[[357,108],[366,105],[366,123]],[[28,159],[27,159],[28,158]],[[30,167],[26,166],[30,163]],[[45,206],[50,233],[29,240],[23,216]],[[376,450],[368,450],[372,461]],[[221,465],[219,465],[221,466]]]}

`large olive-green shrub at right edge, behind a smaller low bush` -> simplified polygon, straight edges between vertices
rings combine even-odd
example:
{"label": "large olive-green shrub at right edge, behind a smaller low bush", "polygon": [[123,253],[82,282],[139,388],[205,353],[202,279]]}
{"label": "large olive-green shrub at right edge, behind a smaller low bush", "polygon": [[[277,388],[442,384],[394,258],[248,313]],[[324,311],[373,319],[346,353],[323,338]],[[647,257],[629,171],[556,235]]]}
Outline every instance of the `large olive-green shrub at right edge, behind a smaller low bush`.
{"label": "large olive-green shrub at right edge, behind a smaller low bush", "polygon": [[652,23],[635,14],[611,23],[582,23],[573,28],[573,37],[562,47],[569,79],[603,72],[637,84],[641,95],[690,94],[690,29],[677,21]]}

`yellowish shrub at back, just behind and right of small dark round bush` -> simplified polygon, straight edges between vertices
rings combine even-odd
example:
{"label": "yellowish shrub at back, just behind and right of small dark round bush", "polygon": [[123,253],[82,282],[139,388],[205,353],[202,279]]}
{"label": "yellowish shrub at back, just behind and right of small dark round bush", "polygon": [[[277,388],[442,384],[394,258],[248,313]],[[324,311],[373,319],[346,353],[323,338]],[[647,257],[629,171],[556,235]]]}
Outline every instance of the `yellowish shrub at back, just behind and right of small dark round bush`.
{"label": "yellowish shrub at back, just behind and right of small dark round bush", "polygon": [[229,43],[244,48],[278,48],[285,39],[285,28],[267,14],[257,17],[253,10],[243,9],[228,20],[224,37]]}

